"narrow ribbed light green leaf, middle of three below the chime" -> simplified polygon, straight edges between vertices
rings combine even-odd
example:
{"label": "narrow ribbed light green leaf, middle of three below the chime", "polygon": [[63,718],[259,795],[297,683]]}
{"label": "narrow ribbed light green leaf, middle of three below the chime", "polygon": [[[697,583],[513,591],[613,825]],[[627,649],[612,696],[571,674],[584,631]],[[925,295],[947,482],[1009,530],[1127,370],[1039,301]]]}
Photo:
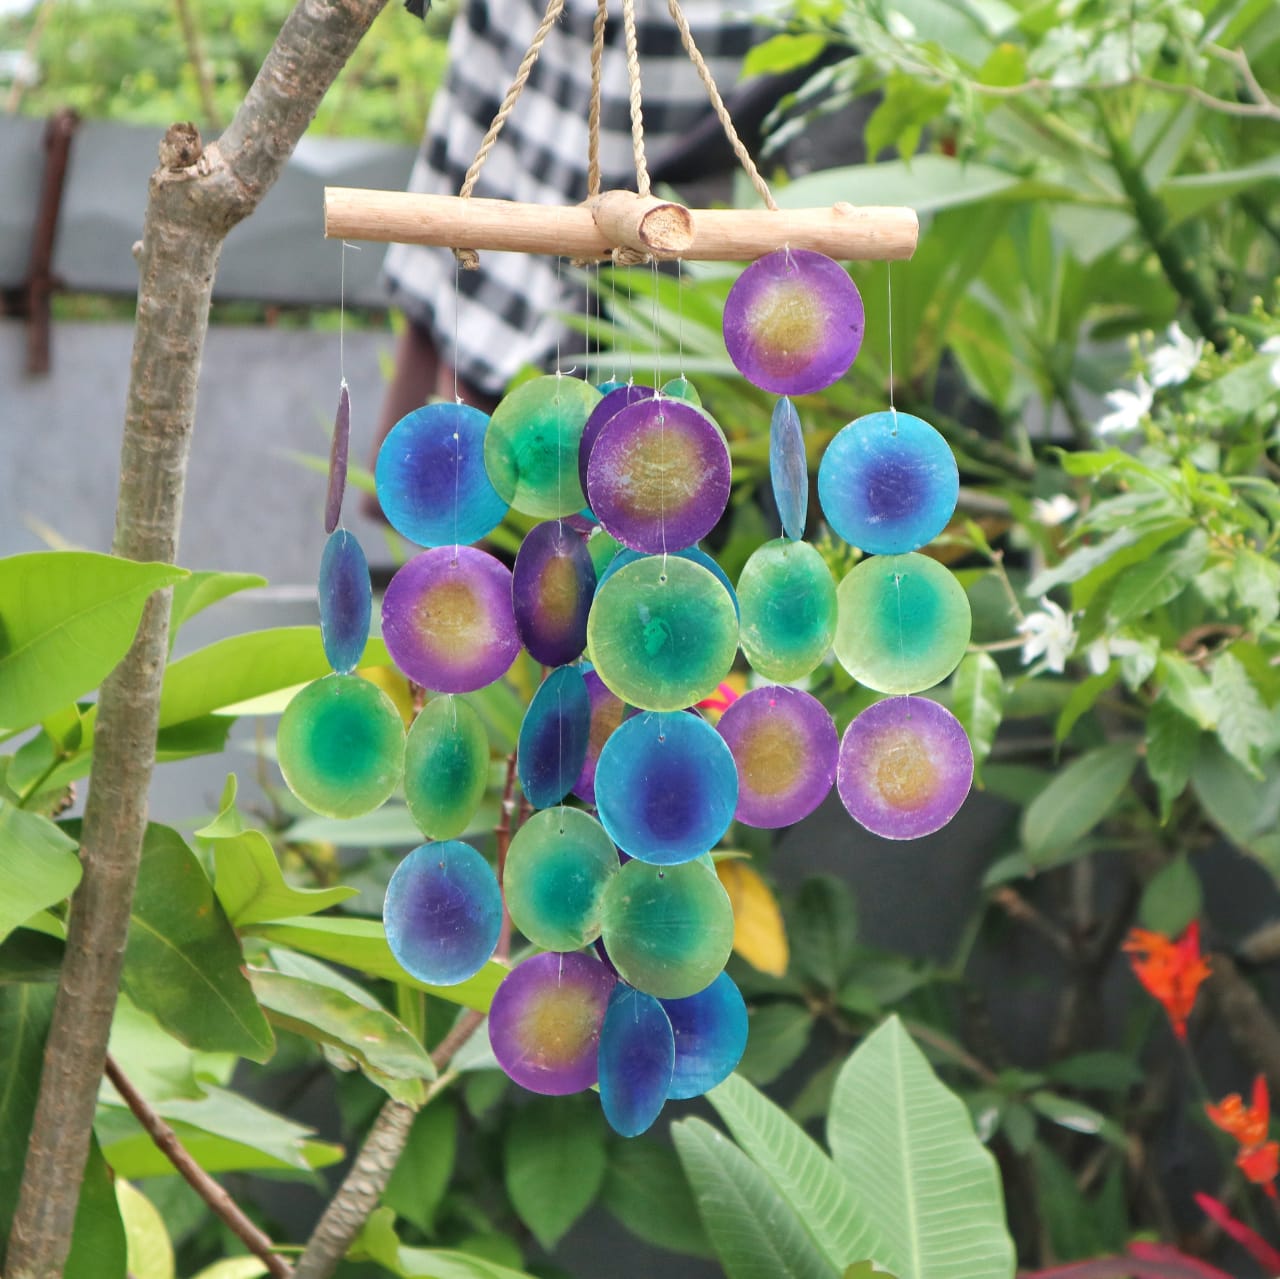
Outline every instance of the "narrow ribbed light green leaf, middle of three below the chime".
{"label": "narrow ribbed light green leaf, middle of three below the chime", "polygon": [[713,1088],[707,1100],[832,1266],[883,1255],[876,1223],[844,1174],[785,1111],[737,1075]]}

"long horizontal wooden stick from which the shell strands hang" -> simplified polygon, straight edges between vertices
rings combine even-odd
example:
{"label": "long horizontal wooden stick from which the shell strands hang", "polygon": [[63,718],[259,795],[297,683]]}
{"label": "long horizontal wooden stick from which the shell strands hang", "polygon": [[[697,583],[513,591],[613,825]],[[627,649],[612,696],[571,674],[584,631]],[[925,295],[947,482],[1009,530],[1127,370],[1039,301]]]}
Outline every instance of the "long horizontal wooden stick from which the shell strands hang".
{"label": "long horizontal wooden stick from which the shell strands hang", "polygon": [[[622,195],[608,192],[602,201],[616,204]],[[630,198],[637,201],[634,195]],[[915,252],[919,234],[914,209],[856,207],[844,201],[831,209],[690,209],[689,215],[691,243],[668,252],[646,246],[643,238],[635,243],[608,238],[586,205],[525,205],[355,187],[325,187],[324,192],[324,233],[332,239],[559,253],[575,259],[608,257],[613,248],[627,248],[649,251],[655,257],[748,261],[790,247],[812,248],[840,260],[900,261]],[[607,221],[611,233],[621,233],[617,221]],[[644,216],[631,221],[637,232],[643,229]]]}

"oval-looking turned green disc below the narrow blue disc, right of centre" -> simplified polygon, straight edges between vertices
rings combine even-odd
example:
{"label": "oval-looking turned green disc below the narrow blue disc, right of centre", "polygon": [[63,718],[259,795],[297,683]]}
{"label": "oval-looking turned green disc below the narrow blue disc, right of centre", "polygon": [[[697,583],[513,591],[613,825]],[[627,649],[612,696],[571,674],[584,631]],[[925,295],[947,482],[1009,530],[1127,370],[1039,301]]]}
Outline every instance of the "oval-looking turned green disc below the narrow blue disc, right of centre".
{"label": "oval-looking turned green disc below the narrow blue disc, right of centre", "polygon": [[768,680],[799,680],[827,656],[836,635],[836,584],[808,542],[774,538],[737,579],[742,652]]}

